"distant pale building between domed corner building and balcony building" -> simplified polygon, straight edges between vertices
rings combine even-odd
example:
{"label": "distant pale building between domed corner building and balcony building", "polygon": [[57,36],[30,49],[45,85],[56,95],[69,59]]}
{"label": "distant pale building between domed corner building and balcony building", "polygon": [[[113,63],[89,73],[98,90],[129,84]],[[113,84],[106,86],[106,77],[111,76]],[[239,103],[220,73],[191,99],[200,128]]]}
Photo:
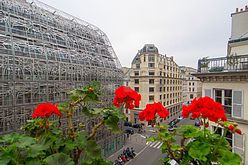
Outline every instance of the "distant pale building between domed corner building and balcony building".
{"label": "distant pale building between domed corner building and balcony building", "polygon": [[187,66],[180,66],[183,79],[183,104],[189,105],[194,98],[202,96],[202,83],[199,78],[193,74],[197,69]]}

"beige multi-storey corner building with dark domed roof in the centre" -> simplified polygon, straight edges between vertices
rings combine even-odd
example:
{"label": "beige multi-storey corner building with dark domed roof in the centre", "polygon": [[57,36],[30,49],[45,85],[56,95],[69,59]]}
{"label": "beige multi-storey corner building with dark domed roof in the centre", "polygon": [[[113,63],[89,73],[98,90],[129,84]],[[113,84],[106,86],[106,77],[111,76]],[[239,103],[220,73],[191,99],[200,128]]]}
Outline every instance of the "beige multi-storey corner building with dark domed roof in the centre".
{"label": "beige multi-storey corner building with dark domed roof in the centre", "polygon": [[[131,68],[123,68],[124,85],[131,87],[141,94],[139,107],[126,110],[127,121],[140,123],[138,113],[145,109],[146,104],[161,102],[170,112],[167,119],[179,116],[182,109],[183,79],[180,67],[173,57],[159,54],[153,44],[146,44],[134,57]],[[151,122],[145,122],[146,125]],[[165,122],[157,119],[157,123]],[[156,124],[157,124],[156,123]]]}

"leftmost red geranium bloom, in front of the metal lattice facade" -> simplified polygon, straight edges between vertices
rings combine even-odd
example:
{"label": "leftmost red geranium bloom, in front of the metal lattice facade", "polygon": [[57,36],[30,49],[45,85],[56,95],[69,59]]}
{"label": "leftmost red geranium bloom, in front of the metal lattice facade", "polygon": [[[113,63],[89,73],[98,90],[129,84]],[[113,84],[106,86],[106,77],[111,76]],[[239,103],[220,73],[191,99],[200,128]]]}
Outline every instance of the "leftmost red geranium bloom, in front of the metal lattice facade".
{"label": "leftmost red geranium bloom, in front of the metal lattice facade", "polygon": [[51,103],[43,103],[37,106],[37,109],[34,110],[32,118],[35,117],[44,117],[49,118],[53,113],[57,116],[61,116],[60,110],[57,108],[58,105],[52,105]]}

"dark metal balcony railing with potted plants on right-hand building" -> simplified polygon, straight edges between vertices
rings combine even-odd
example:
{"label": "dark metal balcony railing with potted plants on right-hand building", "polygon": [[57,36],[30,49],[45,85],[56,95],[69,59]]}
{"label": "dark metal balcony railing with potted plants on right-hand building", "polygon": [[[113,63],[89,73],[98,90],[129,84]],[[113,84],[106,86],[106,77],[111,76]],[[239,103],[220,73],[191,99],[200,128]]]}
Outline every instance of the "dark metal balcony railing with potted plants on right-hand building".
{"label": "dark metal balcony railing with potted plants on right-hand building", "polygon": [[198,73],[242,71],[248,71],[248,55],[198,60]]}

